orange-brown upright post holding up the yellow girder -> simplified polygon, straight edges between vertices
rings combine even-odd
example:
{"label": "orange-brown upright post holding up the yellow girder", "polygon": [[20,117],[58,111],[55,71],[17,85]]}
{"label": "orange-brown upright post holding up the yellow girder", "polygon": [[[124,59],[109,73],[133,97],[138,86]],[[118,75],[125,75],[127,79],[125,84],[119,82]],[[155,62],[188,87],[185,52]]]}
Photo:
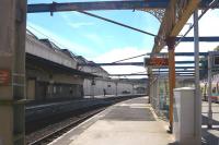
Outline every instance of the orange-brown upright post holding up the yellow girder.
{"label": "orange-brown upright post holding up the yellow girder", "polygon": [[170,133],[173,132],[173,89],[175,88],[175,37],[169,37],[166,39],[169,50],[169,87],[170,87],[170,107],[169,107],[169,120],[170,120]]}

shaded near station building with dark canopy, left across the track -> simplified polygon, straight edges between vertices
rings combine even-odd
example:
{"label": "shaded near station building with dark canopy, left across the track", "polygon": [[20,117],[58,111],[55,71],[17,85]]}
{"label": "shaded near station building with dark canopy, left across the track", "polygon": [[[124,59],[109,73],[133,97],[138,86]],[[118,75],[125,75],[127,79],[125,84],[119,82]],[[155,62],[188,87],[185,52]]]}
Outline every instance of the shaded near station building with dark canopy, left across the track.
{"label": "shaded near station building with dark canopy, left across the track", "polygon": [[83,81],[94,75],[77,70],[77,61],[48,39],[26,35],[27,99],[83,97]]}

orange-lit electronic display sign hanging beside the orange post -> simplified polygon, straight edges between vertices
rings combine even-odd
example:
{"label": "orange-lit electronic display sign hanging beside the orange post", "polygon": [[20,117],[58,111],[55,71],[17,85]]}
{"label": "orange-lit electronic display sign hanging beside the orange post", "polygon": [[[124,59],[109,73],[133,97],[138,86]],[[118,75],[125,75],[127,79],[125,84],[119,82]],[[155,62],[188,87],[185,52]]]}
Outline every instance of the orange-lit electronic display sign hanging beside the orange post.
{"label": "orange-lit electronic display sign hanging beside the orange post", "polygon": [[145,58],[145,67],[164,67],[169,65],[166,58]]}

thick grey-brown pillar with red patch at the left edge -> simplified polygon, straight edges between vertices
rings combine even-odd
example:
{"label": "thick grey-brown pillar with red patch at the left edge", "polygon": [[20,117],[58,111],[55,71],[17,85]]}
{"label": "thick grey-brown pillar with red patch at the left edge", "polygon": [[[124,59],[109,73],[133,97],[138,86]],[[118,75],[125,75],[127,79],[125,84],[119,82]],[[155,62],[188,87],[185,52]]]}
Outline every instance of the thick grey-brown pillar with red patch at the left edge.
{"label": "thick grey-brown pillar with red patch at the left edge", "polygon": [[26,0],[0,2],[0,144],[25,144]]}

